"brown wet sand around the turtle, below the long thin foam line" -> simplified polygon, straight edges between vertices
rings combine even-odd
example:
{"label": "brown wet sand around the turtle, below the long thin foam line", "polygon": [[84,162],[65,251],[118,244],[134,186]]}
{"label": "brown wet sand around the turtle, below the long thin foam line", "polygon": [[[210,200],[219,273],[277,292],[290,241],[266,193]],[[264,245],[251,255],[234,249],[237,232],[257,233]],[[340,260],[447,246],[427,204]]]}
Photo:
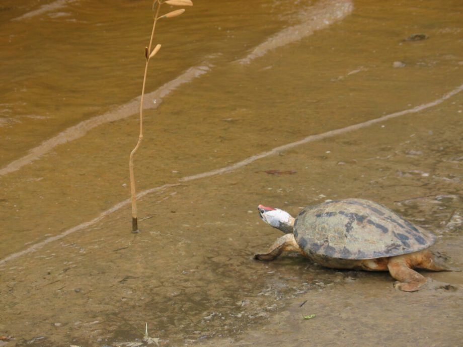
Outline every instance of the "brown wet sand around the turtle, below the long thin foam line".
{"label": "brown wet sand around the turtle, below the long thin foam line", "polygon": [[[117,227],[125,214],[115,213],[13,259],[2,266],[2,305],[10,317],[2,329],[16,336],[12,345],[122,346],[141,338],[145,322],[162,345],[198,339],[259,345],[261,334],[269,345],[281,339],[297,345],[310,338],[297,329],[289,334],[293,325],[318,327],[319,345],[373,336],[378,345],[423,345],[421,338],[430,345],[457,345],[461,273],[426,274],[457,291],[403,293],[394,290],[387,273],[323,269],[298,255],[261,263],[252,255],[280,236],[259,221],[256,203],[295,213],[305,204],[355,196],[381,201],[433,230],[434,247],[461,267],[460,170],[453,151],[461,139],[451,139],[449,146],[449,138],[441,136],[461,124],[459,108],[446,103],[419,118],[408,115],[304,144],[147,195],[141,203],[156,214],[143,216],[138,235],[127,238]],[[439,122],[441,113],[451,122]],[[395,143],[385,129],[395,133]],[[418,159],[420,172],[413,162]],[[263,172],[275,168],[296,173]],[[234,198],[237,191],[245,192],[240,200]],[[303,321],[300,313],[317,317]],[[422,337],[423,331],[429,334]],[[37,336],[46,338],[31,343]],[[220,336],[236,342],[214,340]]]}

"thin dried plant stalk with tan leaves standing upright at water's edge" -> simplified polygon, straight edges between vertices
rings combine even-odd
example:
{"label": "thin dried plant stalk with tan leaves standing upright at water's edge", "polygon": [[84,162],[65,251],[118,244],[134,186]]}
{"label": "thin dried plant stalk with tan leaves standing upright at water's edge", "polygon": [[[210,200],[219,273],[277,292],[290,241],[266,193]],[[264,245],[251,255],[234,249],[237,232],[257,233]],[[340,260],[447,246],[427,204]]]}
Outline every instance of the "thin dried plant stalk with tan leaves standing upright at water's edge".
{"label": "thin dried plant stalk with tan leaves standing upright at water's edge", "polygon": [[155,0],[153,2],[153,9],[156,8],[156,13],[153,16],[154,21],[153,21],[152,30],[151,30],[151,38],[149,39],[149,46],[145,47],[146,64],[145,64],[145,70],[144,70],[144,75],[143,75],[143,86],[141,88],[141,97],[140,97],[140,133],[138,135],[138,142],[135,148],[133,148],[132,151],[130,152],[130,157],[129,157],[130,194],[131,194],[131,201],[132,201],[132,232],[133,233],[139,232],[136,190],[135,190],[135,176],[133,173],[133,156],[135,152],[137,151],[138,147],[140,147],[141,141],[143,140],[143,97],[144,97],[144,92],[145,92],[146,75],[148,72],[149,59],[155,56],[156,53],[158,53],[158,51],[161,49],[161,45],[158,44],[156,45],[155,49],[151,51],[153,37],[155,36],[156,23],[161,18],[172,18],[172,17],[179,16],[183,12],[185,12],[185,9],[175,10],[175,11],[169,12],[168,14],[160,17],[159,12],[161,10],[162,4],[169,4],[172,6],[193,6],[193,3],[191,2],[191,0],[167,0],[167,1]]}

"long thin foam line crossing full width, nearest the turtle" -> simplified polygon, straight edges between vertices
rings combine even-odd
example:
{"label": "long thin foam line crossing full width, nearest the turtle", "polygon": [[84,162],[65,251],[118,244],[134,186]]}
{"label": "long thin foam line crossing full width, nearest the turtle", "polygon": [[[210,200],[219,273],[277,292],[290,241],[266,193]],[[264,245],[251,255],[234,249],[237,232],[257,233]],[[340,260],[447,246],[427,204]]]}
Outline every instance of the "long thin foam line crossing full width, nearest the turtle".
{"label": "long thin foam line crossing full width, nearest the turtle", "polygon": [[[296,146],[299,146],[299,145],[302,145],[302,144],[305,144],[305,143],[308,143],[308,142],[313,142],[313,141],[322,140],[322,139],[325,139],[325,138],[328,138],[328,137],[333,137],[333,136],[336,136],[336,135],[345,134],[347,132],[359,130],[359,129],[362,129],[362,128],[366,128],[366,127],[368,127],[370,125],[373,125],[375,123],[383,122],[383,121],[386,121],[386,120],[389,120],[389,119],[392,119],[392,118],[400,117],[400,116],[407,115],[407,114],[417,113],[417,112],[423,111],[425,109],[437,106],[437,105],[443,103],[445,100],[451,98],[455,94],[460,93],[461,91],[463,91],[463,84],[457,86],[452,91],[444,94],[441,98],[433,100],[433,101],[431,101],[429,103],[422,104],[422,105],[416,106],[416,107],[411,108],[411,109],[390,113],[388,115],[385,115],[385,116],[382,116],[382,117],[379,117],[379,118],[371,119],[371,120],[368,120],[368,121],[365,121],[365,122],[362,122],[362,123],[353,124],[353,125],[350,125],[350,126],[347,126],[347,127],[344,127],[344,128],[330,130],[330,131],[327,131],[327,132],[322,133],[322,134],[309,135],[309,136],[307,136],[307,137],[305,137],[305,138],[303,138],[303,139],[301,139],[299,141],[287,143],[285,145],[275,147],[275,148],[273,148],[271,150],[268,150],[266,152],[262,152],[262,153],[250,156],[250,157],[248,157],[248,158],[246,158],[244,160],[241,160],[241,161],[239,161],[239,162],[237,162],[237,163],[235,163],[233,165],[225,166],[225,167],[218,168],[218,169],[211,170],[211,171],[207,171],[207,172],[198,173],[197,175],[191,175],[191,176],[183,177],[183,178],[179,179],[179,183],[176,183],[176,184],[166,184],[166,185],[163,185],[161,187],[155,187],[155,188],[151,188],[151,189],[142,191],[142,192],[137,194],[137,198],[142,198],[142,197],[144,197],[144,196],[146,196],[148,194],[158,192],[158,191],[162,191],[162,190],[165,190],[165,189],[170,188],[170,187],[178,186],[182,182],[188,182],[188,181],[198,180],[198,179],[202,179],[202,178],[206,178],[206,177],[210,177],[210,176],[221,175],[222,173],[230,172],[230,171],[236,170],[238,168],[241,168],[243,166],[249,165],[250,163],[252,163],[252,162],[254,162],[254,161],[258,160],[258,159],[265,158],[265,157],[267,157],[269,155],[277,154],[277,153],[279,153],[281,151],[284,151],[284,150],[287,150],[287,149],[290,149],[290,148],[293,148],[293,147],[296,147]],[[15,258],[21,256],[21,255],[31,253],[31,252],[43,247],[44,245],[46,245],[46,244],[48,244],[50,242],[59,240],[59,239],[65,237],[65,236],[67,236],[69,234],[72,234],[72,233],[76,232],[76,231],[85,229],[85,228],[99,222],[100,220],[102,220],[107,215],[109,215],[109,214],[111,214],[113,212],[116,212],[119,209],[121,209],[122,207],[127,206],[129,204],[130,204],[130,199],[126,199],[126,200],[120,202],[119,204],[111,207],[110,209],[102,212],[98,217],[92,219],[89,222],[85,222],[85,223],[79,224],[77,226],[74,226],[74,227],[72,227],[70,229],[67,229],[66,231],[62,232],[61,234],[51,236],[51,237],[49,237],[49,238],[47,238],[47,239],[45,239],[45,240],[43,240],[43,241],[41,241],[39,243],[36,243],[36,244],[34,244],[34,245],[32,245],[32,246],[30,246],[30,247],[28,247],[28,248],[26,248],[26,249],[24,249],[24,250],[22,250],[20,252],[10,254],[9,256],[7,256],[5,258],[0,259],[0,266],[5,264],[8,261],[11,261],[12,259],[15,259]]]}

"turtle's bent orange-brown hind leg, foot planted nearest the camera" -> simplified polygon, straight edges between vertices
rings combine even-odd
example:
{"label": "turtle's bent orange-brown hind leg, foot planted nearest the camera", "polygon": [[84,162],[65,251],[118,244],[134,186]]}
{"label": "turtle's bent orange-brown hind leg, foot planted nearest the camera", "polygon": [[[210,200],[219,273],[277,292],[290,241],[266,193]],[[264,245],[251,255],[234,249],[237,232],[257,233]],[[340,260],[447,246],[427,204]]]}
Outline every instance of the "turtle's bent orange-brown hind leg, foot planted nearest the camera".
{"label": "turtle's bent orange-brown hind leg, foot planted nearest the camera", "polygon": [[[420,289],[452,289],[456,288],[448,283],[434,281],[430,278],[426,278],[423,275],[420,275],[415,270],[411,269],[410,257],[405,255],[393,256],[390,258],[388,263],[389,273],[394,277],[398,282],[394,284],[394,288],[400,289],[404,292],[416,292]],[[420,266],[421,267],[421,266]],[[428,269],[431,270],[431,269]],[[441,271],[434,269],[434,271]]]}

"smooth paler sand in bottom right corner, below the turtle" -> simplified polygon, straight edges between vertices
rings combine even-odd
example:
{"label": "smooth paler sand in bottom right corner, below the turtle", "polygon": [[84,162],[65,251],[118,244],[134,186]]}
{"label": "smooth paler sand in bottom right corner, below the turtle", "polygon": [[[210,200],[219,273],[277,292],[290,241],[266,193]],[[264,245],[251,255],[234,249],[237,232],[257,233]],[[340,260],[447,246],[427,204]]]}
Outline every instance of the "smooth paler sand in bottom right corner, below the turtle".
{"label": "smooth paler sand in bottom right corner, below the turtle", "polygon": [[[242,335],[197,345],[461,345],[461,293],[400,293],[385,276],[343,273],[338,277],[338,283],[291,300],[284,310]],[[310,314],[316,317],[303,319]]]}

